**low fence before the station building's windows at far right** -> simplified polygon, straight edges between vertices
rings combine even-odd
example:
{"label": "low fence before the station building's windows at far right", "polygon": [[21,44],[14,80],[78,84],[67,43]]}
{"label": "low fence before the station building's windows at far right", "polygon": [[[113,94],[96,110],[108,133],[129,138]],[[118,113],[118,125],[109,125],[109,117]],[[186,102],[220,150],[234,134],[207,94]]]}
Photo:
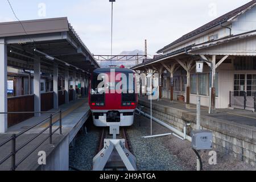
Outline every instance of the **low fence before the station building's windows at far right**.
{"label": "low fence before the station building's windows at far right", "polygon": [[253,96],[247,96],[244,91],[230,91],[229,105],[237,109],[256,111],[256,92],[253,93]]}

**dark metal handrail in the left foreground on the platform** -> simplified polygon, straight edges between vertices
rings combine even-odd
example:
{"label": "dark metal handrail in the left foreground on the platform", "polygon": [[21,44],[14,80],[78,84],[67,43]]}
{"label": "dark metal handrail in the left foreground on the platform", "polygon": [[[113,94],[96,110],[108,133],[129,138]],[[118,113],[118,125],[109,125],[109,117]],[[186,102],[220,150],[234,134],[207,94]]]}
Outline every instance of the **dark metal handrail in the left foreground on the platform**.
{"label": "dark metal handrail in the left foreground on the platform", "polygon": [[[23,130],[18,134],[13,134],[10,138],[7,138],[4,142],[0,143],[0,147],[2,147],[5,144],[12,141],[12,150],[11,150],[10,154],[8,154],[7,156],[5,156],[5,158],[0,160],[0,165],[1,165],[2,163],[6,162],[6,160],[11,158],[11,170],[12,171],[15,171],[15,169],[19,166],[19,164],[21,164],[24,160],[26,160],[28,158],[28,156],[30,156],[32,154],[32,152],[34,152],[38,147],[40,147],[44,142],[46,142],[47,139],[49,139],[49,143],[52,144],[52,135],[55,134],[57,130],[60,131],[60,135],[62,134],[62,129],[61,129],[61,127],[62,127],[62,114],[61,114],[61,110],[55,111],[55,112],[53,112],[53,111],[46,111],[46,112],[6,112],[6,113],[0,113],[0,114],[20,114],[20,113],[51,113],[51,115],[49,115],[49,117],[43,119],[42,121],[40,121],[38,123],[35,123],[35,125],[29,127],[28,129]],[[58,113],[59,113],[59,119],[57,119],[57,121],[52,123],[53,116],[58,114]],[[27,140],[27,142],[23,143],[21,146],[16,148],[16,139],[18,137],[20,137],[20,135],[22,135],[22,134],[26,133],[27,131],[33,129],[34,127],[40,125],[44,121],[47,121],[47,119],[49,119],[49,126],[47,126],[45,129],[40,131],[40,133],[38,133],[35,137]],[[59,122],[59,127],[57,127],[57,129],[52,132],[52,126],[55,125],[57,122]],[[22,148],[24,148],[25,146],[27,146],[27,144],[31,143],[34,139],[38,138],[39,135],[43,134],[48,129],[49,129],[48,137],[43,139],[42,142],[40,142],[34,148],[32,148],[32,150],[30,152],[28,152],[28,154],[26,154],[22,159],[19,160],[18,163],[16,163],[16,153],[18,151],[20,151]]]}

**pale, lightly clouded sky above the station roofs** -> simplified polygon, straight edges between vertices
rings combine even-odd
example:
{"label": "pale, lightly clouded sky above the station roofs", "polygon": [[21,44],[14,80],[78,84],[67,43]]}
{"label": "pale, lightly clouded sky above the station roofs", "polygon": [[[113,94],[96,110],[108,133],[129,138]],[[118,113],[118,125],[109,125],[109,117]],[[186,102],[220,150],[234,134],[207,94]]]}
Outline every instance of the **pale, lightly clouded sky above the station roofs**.
{"label": "pale, lightly clouded sky above the station roofs", "polygon": [[[20,20],[67,16],[94,55],[110,55],[109,0],[9,0]],[[113,54],[144,50],[148,54],[250,0],[116,0],[113,4]],[[0,22],[16,20],[7,0],[0,2]]]}

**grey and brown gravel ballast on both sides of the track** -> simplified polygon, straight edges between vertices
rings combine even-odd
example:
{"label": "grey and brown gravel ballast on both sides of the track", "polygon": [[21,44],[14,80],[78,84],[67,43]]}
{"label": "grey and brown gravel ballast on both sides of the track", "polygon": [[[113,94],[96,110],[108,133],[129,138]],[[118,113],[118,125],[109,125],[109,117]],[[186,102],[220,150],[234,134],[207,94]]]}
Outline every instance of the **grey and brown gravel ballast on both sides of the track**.
{"label": "grey and brown gravel ballast on both sides of the track", "polygon": [[[101,129],[92,124],[88,134],[79,133],[75,146],[69,150],[69,165],[73,168],[92,170],[93,157],[97,153]],[[171,131],[152,121],[152,134],[164,134]],[[157,138],[142,138],[150,135],[150,119],[135,115],[134,125],[127,127],[127,134],[137,158],[138,171],[195,171],[196,155],[191,143],[173,135]],[[205,171],[255,170],[255,167],[236,160],[233,156],[217,152],[217,164],[208,163],[209,151],[201,152]]]}

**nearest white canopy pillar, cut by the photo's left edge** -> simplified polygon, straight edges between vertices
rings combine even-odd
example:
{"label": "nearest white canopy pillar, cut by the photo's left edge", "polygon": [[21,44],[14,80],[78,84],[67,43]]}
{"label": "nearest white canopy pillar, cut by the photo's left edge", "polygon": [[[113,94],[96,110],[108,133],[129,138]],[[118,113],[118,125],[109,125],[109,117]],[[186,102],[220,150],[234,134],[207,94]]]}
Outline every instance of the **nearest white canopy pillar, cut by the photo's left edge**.
{"label": "nearest white canopy pillar, cut by the photo's left edge", "polygon": [[[7,46],[0,39],[0,113],[7,112]],[[7,131],[7,114],[0,114],[0,133]]]}

